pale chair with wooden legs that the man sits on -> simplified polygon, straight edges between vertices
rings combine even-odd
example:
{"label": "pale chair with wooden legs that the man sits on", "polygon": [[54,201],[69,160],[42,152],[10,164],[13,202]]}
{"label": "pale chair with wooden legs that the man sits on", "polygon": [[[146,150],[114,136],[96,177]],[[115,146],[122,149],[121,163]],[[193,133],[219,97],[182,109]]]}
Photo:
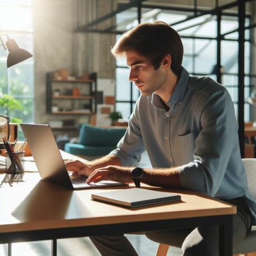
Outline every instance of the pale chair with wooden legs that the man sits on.
{"label": "pale chair with wooden legs that the man sits on", "polygon": [[[244,158],[243,163],[247,173],[249,190],[256,198],[256,158]],[[172,244],[170,243],[170,245]],[[170,245],[160,243],[156,256],[166,256]],[[256,226],[253,226],[252,231],[245,236],[240,247],[233,253],[235,253],[233,256],[256,256]]]}

